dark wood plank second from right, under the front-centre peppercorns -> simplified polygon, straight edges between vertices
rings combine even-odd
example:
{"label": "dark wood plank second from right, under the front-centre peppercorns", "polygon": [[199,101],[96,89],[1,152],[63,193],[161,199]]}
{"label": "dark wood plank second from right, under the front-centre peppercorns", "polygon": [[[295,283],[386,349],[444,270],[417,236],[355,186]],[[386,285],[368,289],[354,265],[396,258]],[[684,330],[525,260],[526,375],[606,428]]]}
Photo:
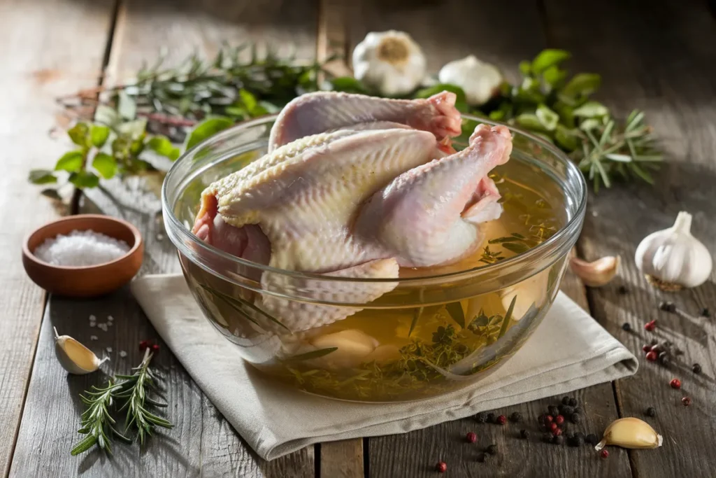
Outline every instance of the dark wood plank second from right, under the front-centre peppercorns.
{"label": "dark wood plank second from right, under the front-centre peppercorns", "polygon": [[[518,15],[508,12],[520,12]],[[392,1],[363,2],[352,11],[351,44],[354,46],[369,31],[402,29],[409,32],[423,47],[431,71],[438,70],[451,59],[475,54],[493,62],[505,76],[515,81],[517,64],[533,57],[545,47],[541,19],[536,5],[528,1],[468,4],[463,1]],[[445,34],[436,24],[450,22],[452,34]],[[586,310],[589,307],[581,281],[568,272],[562,289]],[[572,394],[584,403],[586,416],[583,431],[597,431],[617,418],[614,393],[610,383],[601,384]],[[609,462],[599,460],[594,450],[558,447],[540,442],[537,417],[548,405],[556,405],[561,397],[545,398],[497,410],[509,415],[518,411],[523,424],[478,425],[473,419],[449,422],[405,435],[369,439],[369,471],[371,477],[434,476],[435,462],[448,463],[452,476],[550,476],[550,477],[629,477],[627,454],[615,451]],[[528,441],[518,438],[518,431],[531,433]],[[478,446],[464,442],[465,434],[475,431]],[[500,449],[498,457],[478,463],[481,451],[488,444]],[[526,458],[528,457],[528,458]],[[579,463],[579,467],[574,464]]]}

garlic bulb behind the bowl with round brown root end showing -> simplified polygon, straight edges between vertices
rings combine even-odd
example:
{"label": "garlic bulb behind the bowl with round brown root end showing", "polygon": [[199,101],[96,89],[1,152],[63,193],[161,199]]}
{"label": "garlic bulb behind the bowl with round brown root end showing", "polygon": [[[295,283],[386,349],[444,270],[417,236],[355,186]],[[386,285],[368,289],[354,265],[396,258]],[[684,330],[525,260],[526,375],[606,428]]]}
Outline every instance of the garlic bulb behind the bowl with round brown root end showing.
{"label": "garlic bulb behind the bowl with round brown root end showing", "polygon": [[409,34],[370,32],[353,49],[356,80],[384,96],[407,95],[420,86],[427,61]]}

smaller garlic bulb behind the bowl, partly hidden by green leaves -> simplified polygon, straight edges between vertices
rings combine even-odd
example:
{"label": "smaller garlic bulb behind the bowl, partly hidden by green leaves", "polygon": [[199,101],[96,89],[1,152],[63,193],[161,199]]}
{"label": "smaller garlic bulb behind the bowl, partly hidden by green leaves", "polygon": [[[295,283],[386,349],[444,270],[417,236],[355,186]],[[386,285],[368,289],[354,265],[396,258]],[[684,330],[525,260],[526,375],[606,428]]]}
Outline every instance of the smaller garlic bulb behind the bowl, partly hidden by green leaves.
{"label": "smaller garlic bulb behind the bowl, partly hidden by green leaves", "polygon": [[480,62],[475,55],[446,64],[437,74],[441,83],[459,86],[469,105],[480,106],[490,100],[503,82],[502,73],[493,64]]}

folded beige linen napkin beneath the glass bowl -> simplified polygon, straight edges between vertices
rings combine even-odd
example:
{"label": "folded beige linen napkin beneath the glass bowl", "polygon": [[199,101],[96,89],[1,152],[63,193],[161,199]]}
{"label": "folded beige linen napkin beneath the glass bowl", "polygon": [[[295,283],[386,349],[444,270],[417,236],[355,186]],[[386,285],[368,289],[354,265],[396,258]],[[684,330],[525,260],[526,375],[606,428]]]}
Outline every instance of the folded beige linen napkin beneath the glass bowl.
{"label": "folded beige linen napkin beneath the glass bowl", "polygon": [[263,459],[306,445],[404,433],[574,391],[637,371],[637,358],[561,292],[542,323],[479,383],[407,403],[352,403],[302,393],[261,376],[203,316],[181,275],[145,275],[132,293],[190,376]]}

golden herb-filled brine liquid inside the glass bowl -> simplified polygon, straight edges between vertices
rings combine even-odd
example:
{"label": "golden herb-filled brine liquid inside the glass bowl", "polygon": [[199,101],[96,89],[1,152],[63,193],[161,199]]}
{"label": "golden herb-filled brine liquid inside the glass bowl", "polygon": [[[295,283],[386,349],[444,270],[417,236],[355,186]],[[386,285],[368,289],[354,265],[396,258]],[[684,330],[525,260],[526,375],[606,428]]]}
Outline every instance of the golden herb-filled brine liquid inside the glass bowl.
{"label": "golden herb-filled brine liquid inside the glass bowl", "polygon": [[[483,244],[455,264],[401,269],[400,277],[484,267],[536,247],[565,224],[563,192],[537,168],[511,161],[491,176],[503,196],[503,214],[485,224]],[[526,184],[538,185],[541,193]],[[359,401],[435,396],[473,382],[526,340],[556,292],[563,264],[469,299],[364,309],[281,338],[288,345],[274,360],[252,361],[280,381],[324,396]],[[216,309],[208,315],[216,322]],[[311,347],[291,351],[295,343]]]}

